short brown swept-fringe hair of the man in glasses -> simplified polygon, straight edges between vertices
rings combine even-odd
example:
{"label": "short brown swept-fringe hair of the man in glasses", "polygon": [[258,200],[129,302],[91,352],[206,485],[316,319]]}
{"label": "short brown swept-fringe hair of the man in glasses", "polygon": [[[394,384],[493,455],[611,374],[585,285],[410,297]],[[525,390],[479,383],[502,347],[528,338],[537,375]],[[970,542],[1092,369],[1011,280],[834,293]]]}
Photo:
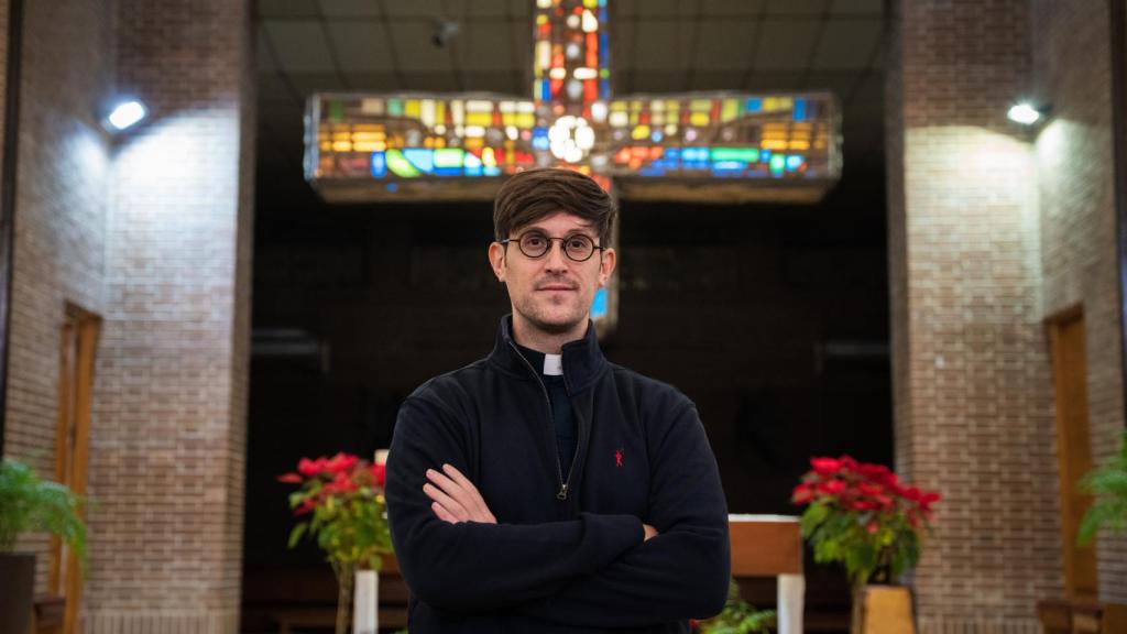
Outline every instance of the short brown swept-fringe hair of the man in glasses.
{"label": "short brown swept-fringe hair of the man in glasses", "polygon": [[616,212],[610,194],[589,176],[556,167],[518,171],[502,185],[494,202],[494,235],[504,240],[511,231],[559,211],[591,222],[600,244],[610,246]]}

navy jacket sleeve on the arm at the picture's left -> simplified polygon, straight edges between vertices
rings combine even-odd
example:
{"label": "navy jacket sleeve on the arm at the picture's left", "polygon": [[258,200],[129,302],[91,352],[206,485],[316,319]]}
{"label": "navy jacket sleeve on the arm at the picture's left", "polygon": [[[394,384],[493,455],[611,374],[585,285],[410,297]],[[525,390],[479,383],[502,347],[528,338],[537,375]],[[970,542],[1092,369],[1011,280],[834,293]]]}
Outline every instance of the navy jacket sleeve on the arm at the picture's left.
{"label": "navy jacket sleeve on the arm at the picture's left", "polygon": [[411,591],[441,609],[489,611],[558,592],[642,541],[633,516],[580,514],[538,525],[449,523],[423,492],[426,469],[465,474],[467,432],[447,408],[417,396],[399,412],[387,500],[399,566]]}

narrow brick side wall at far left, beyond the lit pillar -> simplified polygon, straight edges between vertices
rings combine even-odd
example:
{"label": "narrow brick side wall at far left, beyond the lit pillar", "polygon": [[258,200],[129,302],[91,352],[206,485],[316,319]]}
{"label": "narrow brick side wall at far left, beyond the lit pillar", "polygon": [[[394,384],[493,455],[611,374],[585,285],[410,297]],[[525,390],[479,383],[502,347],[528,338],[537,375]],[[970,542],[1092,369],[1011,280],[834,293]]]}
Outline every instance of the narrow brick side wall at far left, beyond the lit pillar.
{"label": "narrow brick side wall at far left, beyond the lit pillar", "polygon": [[[112,26],[98,0],[24,2],[5,454],[45,477],[54,476],[64,302],[105,305],[109,143],[96,105],[110,78]],[[21,545],[41,555],[38,592],[47,546],[44,537]]]}

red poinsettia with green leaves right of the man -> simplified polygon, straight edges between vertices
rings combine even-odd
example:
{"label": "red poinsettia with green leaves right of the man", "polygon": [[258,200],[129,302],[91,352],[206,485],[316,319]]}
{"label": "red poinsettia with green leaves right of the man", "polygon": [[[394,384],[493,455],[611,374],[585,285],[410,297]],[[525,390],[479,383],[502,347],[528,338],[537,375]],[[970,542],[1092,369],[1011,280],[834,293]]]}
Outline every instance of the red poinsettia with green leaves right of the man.
{"label": "red poinsettia with green leaves right of the man", "polygon": [[920,561],[939,493],[908,486],[884,465],[811,458],[791,501],[819,563],[840,562],[854,589],[891,583]]}

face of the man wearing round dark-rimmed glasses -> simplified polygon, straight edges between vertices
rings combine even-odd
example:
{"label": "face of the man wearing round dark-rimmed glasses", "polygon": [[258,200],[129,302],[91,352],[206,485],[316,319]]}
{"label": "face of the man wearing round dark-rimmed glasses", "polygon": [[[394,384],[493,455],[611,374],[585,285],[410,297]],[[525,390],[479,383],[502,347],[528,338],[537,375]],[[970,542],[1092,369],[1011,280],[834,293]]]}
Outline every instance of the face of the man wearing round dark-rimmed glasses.
{"label": "face of the man wearing round dark-rimmed glasses", "polygon": [[586,262],[575,262],[564,253],[564,241],[550,240],[548,253],[529,257],[521,252],[520,238],[538,232],[547,238],[586,236],[598,245],[594,227],[577,215],[560,211],[526,227],[514,229],[506,245],[489,246],[489,259],[497,279],[508,287],[513,319],[521,319],[545,334],[586,331],[595,291],[606,284],[614,271],[614,249],[595,249]]}

